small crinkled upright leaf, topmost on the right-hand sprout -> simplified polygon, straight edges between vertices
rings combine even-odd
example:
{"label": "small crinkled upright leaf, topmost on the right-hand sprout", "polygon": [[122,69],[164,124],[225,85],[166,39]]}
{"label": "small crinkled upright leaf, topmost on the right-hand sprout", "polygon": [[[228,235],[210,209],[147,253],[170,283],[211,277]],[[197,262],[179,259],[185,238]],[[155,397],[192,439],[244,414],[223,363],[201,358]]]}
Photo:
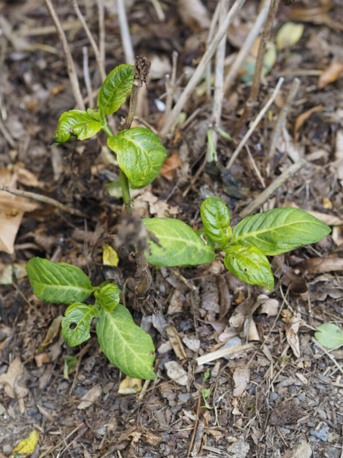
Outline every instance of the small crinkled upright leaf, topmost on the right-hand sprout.
{"label": "small crinkled upright leaf, topmost on the right-hand sprout", "polygon": [[218,197],[208,197],[201,204],[200,215],[206,235],[225,246],[232,233],[229,209],[225,203]]}

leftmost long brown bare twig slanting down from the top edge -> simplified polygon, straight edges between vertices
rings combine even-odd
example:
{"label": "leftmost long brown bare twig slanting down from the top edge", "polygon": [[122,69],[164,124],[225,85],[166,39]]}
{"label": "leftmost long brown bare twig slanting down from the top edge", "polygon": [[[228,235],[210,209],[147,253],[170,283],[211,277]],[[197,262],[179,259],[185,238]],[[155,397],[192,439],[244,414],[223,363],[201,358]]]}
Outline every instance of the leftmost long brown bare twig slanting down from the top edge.
{"label": "leftmost long brown bare twig slanting down from the top edge", "polygon": [[85,110],[85,104],[83,102],[83,98],[82,98],[82,94],[81,94],[80,86],[79,86],[79,81],[77,79],[75,65],[74,65],[74,61],[72,60],[72,53],[70,51],[70,48],[67,42],[67,38],[65,36],[61,23],[54,9],[52,0],[45,0],[45,3],[50,13],[51,19],[53,19],[53,22],[55,24],[58,37],[62,43],[64,58],[66,59],[66,63],[67,63],[67,71],[68,71],[70,83],[72,85],[72,94],[74,95],[76,105],[80,110]]}

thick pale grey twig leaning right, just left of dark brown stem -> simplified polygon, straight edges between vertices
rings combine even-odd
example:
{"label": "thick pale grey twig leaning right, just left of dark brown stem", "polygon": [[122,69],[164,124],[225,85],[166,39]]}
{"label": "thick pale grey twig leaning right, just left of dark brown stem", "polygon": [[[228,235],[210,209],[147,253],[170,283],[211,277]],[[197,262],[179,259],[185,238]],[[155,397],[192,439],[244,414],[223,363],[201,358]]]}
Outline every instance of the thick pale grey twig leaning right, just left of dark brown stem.
{"label": "thick pale grey twig leaning right, just left of dark brown stem", "polygon": [[243,46],[240,48],[237,56],[235,57],[235,60],[233,64],[230,67],[229,72],[225,76],[225,81],[224,81],[224,94],[226,94],[230,89],[233,83],[235,82],[235,79],[238,75],[238,72],[240,68],[242,67],[242,64],[245,60],[245,58],[248,56],[252,46],[253,42],[257,38],[258,34],[260,33],[261,27],[266,21],[268,11],[270,8],[271,0],[265,0],[261,11],[259,12],[253,27],[251,31],[249,32],[247,38],[245,39]]}

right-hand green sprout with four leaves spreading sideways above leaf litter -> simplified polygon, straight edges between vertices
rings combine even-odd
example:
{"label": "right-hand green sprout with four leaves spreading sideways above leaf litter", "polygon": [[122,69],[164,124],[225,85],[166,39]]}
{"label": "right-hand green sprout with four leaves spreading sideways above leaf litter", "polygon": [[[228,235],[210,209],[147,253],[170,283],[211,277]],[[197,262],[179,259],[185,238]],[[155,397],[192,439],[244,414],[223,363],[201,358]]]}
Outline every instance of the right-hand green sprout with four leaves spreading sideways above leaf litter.
{"label": "right-hand green sprout with four leaves spreading sideways above leaf litter", "polygon": [[240,280],[272,290],[274,277],[266,256],[318,242],[330,232],[306,211],[289,207],[248,216],[232,231],[229,209],[218,197],[202,202],[200,216],[204,229],[199,231],[173,218],[144,218],[146,229],[159,241],[148,239],[146,260],[155,266],[196,266],[224,251],[225,267]]}

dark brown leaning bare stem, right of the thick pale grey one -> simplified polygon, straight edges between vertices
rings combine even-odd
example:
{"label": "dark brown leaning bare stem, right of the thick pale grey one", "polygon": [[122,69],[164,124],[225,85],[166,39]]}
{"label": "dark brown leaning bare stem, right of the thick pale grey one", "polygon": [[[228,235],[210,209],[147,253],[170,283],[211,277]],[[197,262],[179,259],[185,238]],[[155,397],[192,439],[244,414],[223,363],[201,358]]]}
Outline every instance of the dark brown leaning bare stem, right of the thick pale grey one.
{"label": "dark brown leaning bare stem, right of the thick pale grey one", "polygon": [[273,27],[274,18],[275,18],[277,8],[279,6],[279,2],[280,0],[271,0],[271,5],[268,11],[267,20],[264,24],[262,35],[261,35],[261,41],[258,47],[255,71],[253,74],[253,84],[250,90],[249,97],[245,103],[243,115],[239,118],[237,122],[237,126],[235,128],[235,134],[238,134],[240,132],[241,128],[243,127],[243,124],[248,119],[252,104],[257,98],[258,91],[260,88],[261,73],[262,73],[262,68],[263,68],[263,59],[264,59],[267,43],[269,39],[271,38],[271,30]]}

